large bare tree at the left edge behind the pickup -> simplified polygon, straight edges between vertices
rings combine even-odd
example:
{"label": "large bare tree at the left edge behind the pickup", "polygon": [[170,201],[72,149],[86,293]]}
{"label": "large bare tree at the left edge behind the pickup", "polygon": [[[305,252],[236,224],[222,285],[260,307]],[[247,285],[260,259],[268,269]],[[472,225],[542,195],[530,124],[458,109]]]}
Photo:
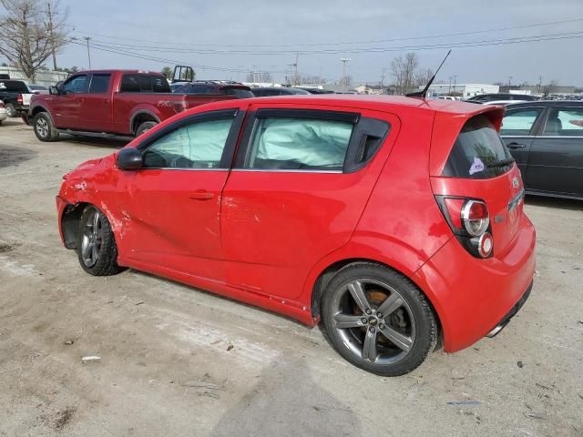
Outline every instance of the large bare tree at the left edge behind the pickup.
{"label": "large bare tree at the left edge behind the pickup", "polygon": [[0,0],[0,5],[5,9],[0,12],[0,54],[34,82],[46,59],[68,42],[68,10],[58,0],[50,7],[42,0]]}

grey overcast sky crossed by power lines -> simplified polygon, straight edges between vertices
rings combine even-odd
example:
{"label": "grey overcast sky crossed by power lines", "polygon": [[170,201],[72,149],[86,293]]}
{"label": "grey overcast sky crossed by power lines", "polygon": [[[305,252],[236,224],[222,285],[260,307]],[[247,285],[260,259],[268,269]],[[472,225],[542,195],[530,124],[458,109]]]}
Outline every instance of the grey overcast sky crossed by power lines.
{"label": "grey overcast sky crossed by power lines", "polygon": [[[391,60],[410,51],[407,48],[411,46],[443,45],[411,50],[416,51],[422,66],[435,69],[447,45],[554,35],[551,37],[569,39],[454,48],[438,79],[447,82],[455,75],[457,83],[506,83],[508,76],[513,76],[513,83],[536,84],[538,77],[544,76],[544,82],[557,79],[563,85],[583,86],[583,0],[61,2],[70,10],[68,22],[75,28],[71,36],[93,38],[93,68],[160,70],[179,61],[230,70],[270,71],[282,81],[297,50],[302,73],[338,80],[342,76],[340,58],[349,57],[347,74],[354,82],[378,83],[385,67],[387,83],[391,81]],[[579,18],[569,23],[537,25]],[[517,26],[523,28],[479,32]],[[467,32],[475,33],[435,37]],[[574,32],[579,32],[575,35],[578,37],[565,35]],[[428,37],[422,39],[424,36]],[[122,44],[125,46],[119,46]],[[97,45],[128,55],[98,50]],[[371,52],[371,47],[379,51]],[[206,53],[193,53],[196,51]],[[129,53],[160,60],[139,59]],[[87,48],[66,46],[57,62],[59,66],[87,67]],[[199,78],[245,78],[240,71],[196,70]]]}

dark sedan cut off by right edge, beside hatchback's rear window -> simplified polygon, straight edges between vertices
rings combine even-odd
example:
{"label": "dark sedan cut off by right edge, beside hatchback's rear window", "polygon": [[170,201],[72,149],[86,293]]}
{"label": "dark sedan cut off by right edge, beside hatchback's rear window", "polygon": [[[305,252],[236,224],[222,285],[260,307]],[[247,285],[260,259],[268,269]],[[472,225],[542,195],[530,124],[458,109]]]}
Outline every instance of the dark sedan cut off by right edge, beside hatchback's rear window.
{"label": "dark sedan cut off by right edge, beside hatchback's rear window", "polygon": [[509,105],[500,134],[528,194],[583,199],[583,102]]}

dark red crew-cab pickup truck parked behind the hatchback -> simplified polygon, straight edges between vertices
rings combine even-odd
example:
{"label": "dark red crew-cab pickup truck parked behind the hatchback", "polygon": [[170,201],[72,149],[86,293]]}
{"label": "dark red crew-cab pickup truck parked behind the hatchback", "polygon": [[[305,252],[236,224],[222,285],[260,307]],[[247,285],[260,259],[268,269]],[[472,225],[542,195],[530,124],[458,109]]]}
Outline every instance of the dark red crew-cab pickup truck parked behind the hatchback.
{"label": "dark red crew-cab pickup truck parked behind the hatchback", "polygon": [[189,107],[237,97],[172,94],[166,77],[138,70],[82,71],[49,89],[31,98],[25,119],[41,141],[59,132],[138,137]]}

